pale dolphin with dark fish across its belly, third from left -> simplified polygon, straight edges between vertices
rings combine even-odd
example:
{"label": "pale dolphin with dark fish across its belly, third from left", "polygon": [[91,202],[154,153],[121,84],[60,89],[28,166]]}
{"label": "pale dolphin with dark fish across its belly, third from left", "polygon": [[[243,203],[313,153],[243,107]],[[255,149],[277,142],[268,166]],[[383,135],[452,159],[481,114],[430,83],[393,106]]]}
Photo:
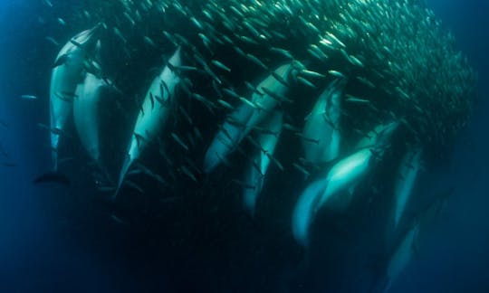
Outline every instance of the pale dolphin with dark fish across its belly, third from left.
{"label": "pale dolphin with dark fish across its belly, third from left", "polygon": [[148,143],[158,135],[168,120],[171,105],[176,101],[175,88],[180,81],[177,72],[172,71],[172,69],[181,66],[181,63],[181,52],[178,47],[163,71],[155,77],[149,86],[132,131],[114,199],[119,193],[120,185],[124,181],[130,165],[139,157]]}

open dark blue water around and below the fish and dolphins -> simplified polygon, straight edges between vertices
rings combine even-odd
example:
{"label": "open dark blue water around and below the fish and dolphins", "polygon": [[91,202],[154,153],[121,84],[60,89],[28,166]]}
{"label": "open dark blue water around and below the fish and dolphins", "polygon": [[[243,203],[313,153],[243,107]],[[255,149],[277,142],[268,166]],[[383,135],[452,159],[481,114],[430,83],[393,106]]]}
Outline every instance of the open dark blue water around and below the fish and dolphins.
{"label": "open dark blue water around and below the fish and dolphins", "polygon": [[[312,270],[317,278],[302,276],[302,251],[293,245],[290,232],[273,230],[276,225],[271,221],[256,227],[243,214],[235,216],[241,211],[231,199],[219,203],[216,214],[199,214],[198,204],[188,203],[191,214],[163,215],[168,225],[140,220],[141,224],[127,228],[92,201],[90,171],[80,167],[83,157],[75,158],[67,170],[78,175],[71,189],[31,184],[50,165],[48,134],[37,123],[48,121],[49,74],[57,53],[44,39],[38,16],[45,7],[39,2],[0,2],[0,121],[7,125],[0,126],[0,144],[8,154],[5,160],[12,163],[0,166],[1,292],[316,292],[328,288],[317,276],[321,271],[324,279],[332,278],[331,263]],[[479,100],[453,157],[424,179],[427,186],[455,185],[455,193],[443,216],[424,232],[418,255],[392,291],[489,292],[489,41],[485,30],[489,5],[477,0],[427,3],[455,33],[458,46],[479,72]],[[22,94],[39,99],[18,99]],[[82,153],[75,144],[71,149]],[[238,219],[226,222],[233,218]],[[365,274],[358,269],[340,277],[356,281]],[[314,281],[308,284],[308,280]]]}

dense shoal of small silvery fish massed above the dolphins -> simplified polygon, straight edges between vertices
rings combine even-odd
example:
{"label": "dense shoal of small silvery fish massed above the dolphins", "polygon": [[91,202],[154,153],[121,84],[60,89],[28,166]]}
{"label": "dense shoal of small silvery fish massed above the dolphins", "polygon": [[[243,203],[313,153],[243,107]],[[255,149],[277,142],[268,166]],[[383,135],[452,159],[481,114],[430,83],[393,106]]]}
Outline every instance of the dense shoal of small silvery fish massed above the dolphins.
{"label": "dense shoal of small silvery fish massed above the dolphins", "polygon": [[[465,126],[474,103],[475,71],[456,50],[453,35],[417,1],[166,0],[119,5],[98,5],[94,11],[99,16],[90,15],[113,23],[116,34],[134,39],[140,26],[147,32],[146,43],[181,45],[188,62],[207,71],[220,89],[230,85],[226,82],[241,86],[232,74],[257,76],[284,61],[324,76],[345,75],[346,94],[358,98],[345,105],[345,137],[358,139],[379,120],[400,118],[413,141],[444,146]],[[211,69],[212,64],[224,65],[210,62],[216,56],[234,65],[256,66]],[[248,69],[252,72],[243,72]],[[327,80],[303,78],[319,88]]]}

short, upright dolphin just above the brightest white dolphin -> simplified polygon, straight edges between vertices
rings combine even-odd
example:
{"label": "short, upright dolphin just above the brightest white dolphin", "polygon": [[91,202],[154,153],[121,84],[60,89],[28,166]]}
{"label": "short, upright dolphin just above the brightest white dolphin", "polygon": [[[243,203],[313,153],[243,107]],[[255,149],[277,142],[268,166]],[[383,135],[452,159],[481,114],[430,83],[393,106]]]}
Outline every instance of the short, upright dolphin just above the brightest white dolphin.
{"label": "short, upright dolphin just above the brightest white dolphin", "polygon": [[346,79],[331,81],[302,129],[302,147],[305,159],[313,163],[327,163],[340,153],[340,107]]}

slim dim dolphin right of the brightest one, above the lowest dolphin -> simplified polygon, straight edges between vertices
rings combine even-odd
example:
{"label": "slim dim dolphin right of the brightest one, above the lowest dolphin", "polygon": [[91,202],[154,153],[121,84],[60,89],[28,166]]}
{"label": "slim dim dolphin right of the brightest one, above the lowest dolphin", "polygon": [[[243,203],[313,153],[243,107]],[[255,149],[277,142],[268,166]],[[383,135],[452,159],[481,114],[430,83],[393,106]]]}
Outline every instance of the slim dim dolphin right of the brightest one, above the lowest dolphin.
{"label": "slim dim dolphin right of the brightest one, above the lowest dolphin", "polygon": [[421,153],[420,147],[409,149],[399,166],[398,177],[394,185],[394,229],[398,227],[400,218],[404,213],[409,196],[416,183],[417,172],[421,165]]}

